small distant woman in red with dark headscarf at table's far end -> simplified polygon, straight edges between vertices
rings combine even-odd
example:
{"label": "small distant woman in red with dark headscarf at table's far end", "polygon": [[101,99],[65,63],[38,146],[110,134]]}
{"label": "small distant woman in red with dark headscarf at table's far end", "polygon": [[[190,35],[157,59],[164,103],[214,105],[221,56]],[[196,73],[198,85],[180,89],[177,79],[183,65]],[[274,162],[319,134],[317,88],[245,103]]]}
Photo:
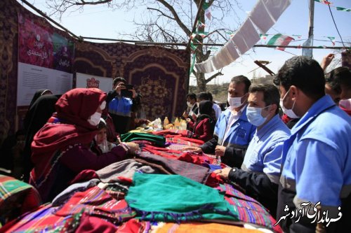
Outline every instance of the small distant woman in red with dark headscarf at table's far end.
{"label": "small distant woman in red with dark headscarf at table's far end", "polygon": [[193,138],[202,141],[208,141],[213,138],[213,130],[215,128],[215,121],[211,117],[213,108],[212,102],[205,100],[199,103],[199,116],[196,122],[192,122],[187,118],[187,124],[192,129]]}

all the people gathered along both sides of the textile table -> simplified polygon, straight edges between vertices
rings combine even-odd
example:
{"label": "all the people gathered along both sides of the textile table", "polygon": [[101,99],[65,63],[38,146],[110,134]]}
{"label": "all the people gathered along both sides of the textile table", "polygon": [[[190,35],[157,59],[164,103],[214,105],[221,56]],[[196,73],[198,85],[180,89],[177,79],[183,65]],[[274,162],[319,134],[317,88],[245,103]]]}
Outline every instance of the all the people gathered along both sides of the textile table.
{"label": "all the people gathered along both sides of the textile table", "polygon": [[[263,204],[284,232],[315,232],[317,223],[307,214],[298,221],[286,218],[289,209],[310,213],[317,211],[313,206],[333,219],[342,213],[324,226],[327,232],[350,227],[351,71],[338,67],[324,73],[332,58],[320,65],[292,57],[275,85],[251,85],[249,78],[235,76],[223,111],[209,92],[187,94],[183,118],[192,138],[204,143],[182,150],[216,155],[225,167],[214,174]],[[133,114],[140,108],[142,96],[129,88],[124,78],[114,78],[107,94],[95,88],[62,96],[39,90],[25,130],[14,139],[23,143],[22,159],[16,155],[4,171],[13,170],[51,202],[81,171],[133,157],[138,144],[117,139],[135,125]],[[14,163],[18,160],[21,165]]]}

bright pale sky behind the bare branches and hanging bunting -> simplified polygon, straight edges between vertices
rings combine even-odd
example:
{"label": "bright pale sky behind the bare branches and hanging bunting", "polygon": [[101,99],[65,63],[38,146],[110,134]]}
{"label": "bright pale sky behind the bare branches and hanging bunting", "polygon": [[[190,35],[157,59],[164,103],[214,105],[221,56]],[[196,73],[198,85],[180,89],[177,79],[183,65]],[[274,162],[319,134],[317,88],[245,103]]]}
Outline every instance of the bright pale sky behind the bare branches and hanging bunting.
{"label": "bright pale sky behind the bare branches and hanging bunting", "polygon": [[[20,0],[18,0],[20,1]],[[46,7],[45,0],[27,0],[34,6],[39,8],[45,13],[49,13]],[[241,4],[241,9],[237,10],[237,15],[239,16],[239,21],[244,22],[247,17],[247,13],[255,6],[257,0],[238,0]],[[351,8],[350,0],[334,0],[332,6],[339,6],[343,8]],[[291,5],[286,8],[284,13],[274,26],[267,31],[267,34],[286,34],[286,35],[301,35],[301,41],[292,41],[290,45],[302,45],[307,39],[308,29],[309,29],[309,10],[308,10],[309,0],[292,0]],[[26,7],[25,4],[23,6]],[[26,7],[27,8],[27,7]],[[135,30],[133,23],[131,22],[133,18],[138,19],[140,15],[145,14],[146,6],[141,6],[135,10],[112,10],[107,8],[107,6],[86,6],[83,11],[67,12],[62,15],[61,21],[58,17],[53,19],[60,22],[63,27],[69,29],[77,36],[86,37],[99,37],[99,38],[120,38],[128,39],[120,36],[121,33],[128,33]],[[336,8],[331,7],[331,12],[333,13],[334,20],[340,32],[341,38],[343,38],[344,43],[351,43],[351,12],[344,12],[336,10]],[[216,16],[216,11],[212,12]],[[196,14],[196,13],[194,13]],[[228,15],[224,19],[227,24],[237,25],[237,18],[232,15]],[[211,25],[211,21],[206,21],[206,25]],[[258,44],[265,44],[270,39],[268,36],[267,40],[261,40]],[[328,6],[314,2],[314,45],[326,45],[332,46],[331,41],[326,36],[334,36],[336,41],[341,41],[336,27],[333,24],[331,18],[331,13],[329,12]],[[229,37],[228,37],[229,39]],[[324,41],[317,41],[324,40]],[[95,42],[110,42],[110,41],[95,41]],[[336,46],[342,46],[341,43],[336,43]],[[347,44],[346,44],[347,46]],[[218,78],[211,81],[211,83],[228,83],[230,78],[237,75],[244,75],[248,78],[262,77],[267,75],[263,69],[256,69],[258,66],[253,63],[255,60],[265,60],[271,63],[267,65],[274,73],[277,73],[279,68],[284,64],[286,59],[293,57],[294,55],[301,55],[301,49],[286,48],[286,52],[281,50],[275,50],[274,48],[253,48],[242,55],[237,61],[232,62],[232,64],[225,66],[222,73],[223,76],[218,76]],[[321,62],[322,58],[329,54],[336,54],[336,59],[340,59],[340,55],[336,50],[328,49],[314,49],[313,57],[317,62]],[[253,71],[256,69],[256,71]],[[206,74],[206,76],[211,76],[212,73]],[[196,85],[196,80],[194,77],[190,77],[190,85]]]}

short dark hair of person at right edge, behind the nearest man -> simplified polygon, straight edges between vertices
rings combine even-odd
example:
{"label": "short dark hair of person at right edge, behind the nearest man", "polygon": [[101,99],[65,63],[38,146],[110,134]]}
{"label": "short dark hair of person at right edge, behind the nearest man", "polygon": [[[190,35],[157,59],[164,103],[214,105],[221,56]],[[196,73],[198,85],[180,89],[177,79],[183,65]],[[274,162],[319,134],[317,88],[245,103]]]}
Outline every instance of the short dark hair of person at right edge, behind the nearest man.
{"label": "short dark hair of person at right edge, behind the nearest man", "polygon": [[340,66],[326,74],[326,83],[331,89],[340,94],[341,85],[345,85],[347,89],[351,89],[351,71],[346,66]]}

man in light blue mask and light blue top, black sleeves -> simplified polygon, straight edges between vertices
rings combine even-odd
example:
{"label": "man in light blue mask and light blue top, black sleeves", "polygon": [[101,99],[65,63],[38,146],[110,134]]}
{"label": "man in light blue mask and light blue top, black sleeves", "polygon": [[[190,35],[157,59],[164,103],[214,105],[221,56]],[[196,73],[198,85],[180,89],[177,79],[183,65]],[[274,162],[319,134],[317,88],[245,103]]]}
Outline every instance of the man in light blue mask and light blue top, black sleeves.
{"label": "man in light blue mask and light blue top, black sleeves", "polygon": [[247,148],[241,169],[214,171],[237,183],[245,194],[258,200],[275,217],[283,143],[290,130],[279,118],[279,90],[274,85],[254,85],[249,89],[246,116],[256,133]]}

